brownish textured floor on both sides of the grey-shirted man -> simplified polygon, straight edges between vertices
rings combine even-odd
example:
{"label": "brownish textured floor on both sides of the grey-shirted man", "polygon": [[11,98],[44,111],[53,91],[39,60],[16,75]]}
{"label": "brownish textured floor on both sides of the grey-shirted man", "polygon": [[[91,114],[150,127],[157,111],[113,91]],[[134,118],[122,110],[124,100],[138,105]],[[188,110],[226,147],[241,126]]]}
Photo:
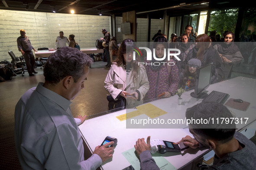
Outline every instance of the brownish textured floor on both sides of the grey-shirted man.
{"label": "brownish textured floor on both sides of the grey-shirted man", "polygon": [[[90,119],[98,113],[107,111],[107,91],[104,88],[104,80],[109,68],[105,68],[106,62],[95,62],[89,69],[85,88],[72,101],[71,111],[73,116],[87,115]],[[35,76],[29,77],[21,74],[13,77],[11,81],[0,83],[0,170],[21,169],[16,154],[14,143],[14,110],[19,98],[29,89],[44,82],[43,70],[36,68]]]}

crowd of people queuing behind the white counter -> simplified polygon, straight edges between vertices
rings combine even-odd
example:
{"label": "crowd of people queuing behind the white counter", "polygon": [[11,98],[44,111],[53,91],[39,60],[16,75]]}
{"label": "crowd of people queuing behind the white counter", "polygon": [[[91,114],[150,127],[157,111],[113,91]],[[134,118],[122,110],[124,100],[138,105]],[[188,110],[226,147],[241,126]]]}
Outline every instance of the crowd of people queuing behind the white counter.
{"label": "crowd of people queuing behind the white counter", "polygon": [[[136,55],[136,60],[133,60],[132,52],[126,50],[131,49],[131,46],[135,46],[136,43],[132,39],[124,40],[121,43],[118,58],[110,67],[105,80],[105,88],[110,94],[107,96],[109,109],[125,106],[127,97],[129,100],[137,101],[136,104],[140,104],[142,100],[148,102],[159,98],[169,98],[175,95],[178,86],[187,90],[193,89],[199,68],[209,63],[213,63],[211,84],[230,78],[232,67],[240,64],[243,60],[239,48],[233,43],[233,32],[226,32],[223,43],[213,44],[212,38],[207,34],[201,34],[194,38],[191,35],[191,30],[193,30],[192,26],[187,25],[184,34],[179,37],[175,34],[172,35],[172,42],[168,42],[159,30],[151,47],[152,60],[147,60],[147,57],[144,57],[145,69],[135,69],[136,65],[138,68],[141,67],[141,65],[138,66],[138,56]],[[134,43],[129,44],[128,42]],[[167,60],[166,54],[169,48],[180,50],[178,55],[180,60],[175,57]],[[170,53],[172,52],[170,51]],[[164,57],[165,59],[161,60]],[[159,60],[161,63],[155,64]],[[172,66],[165,64],[170,62],[174,64]],[[135,63],[135,65],[131,63]],[[121,68],[122,71],[120,71]],[[138,71],[143,77],[140,76],[140,79],[132,77],[138,75]],[[143,83],[146,82],[146,86],[140,84],[141,78],[144,79]],[[130,79],[135,80],[132,85],[130,85]],[[132,91],[129,91],[131,87],[133,87]],[[143,93],[139,91],[141,88],[144,89]],[[136,90],[138,91],[136,92]],[[129,95],[126,95],[129,93],[136,95],[130,98]]]}

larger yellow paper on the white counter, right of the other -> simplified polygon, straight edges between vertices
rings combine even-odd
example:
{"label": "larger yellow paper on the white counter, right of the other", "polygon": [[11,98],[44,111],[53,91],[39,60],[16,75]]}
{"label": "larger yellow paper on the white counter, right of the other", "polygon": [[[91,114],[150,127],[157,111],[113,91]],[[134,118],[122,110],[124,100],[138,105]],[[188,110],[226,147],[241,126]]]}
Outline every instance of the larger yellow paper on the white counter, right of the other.
{"label": "larger yellow paper on the white counter, right of the other", "polygon": [[143,104],[141,106],[137,106],[136,108],[139,110],[140,113],[146,114],[151,119],[167,113],[164,110],[162,110],[150,103]]}

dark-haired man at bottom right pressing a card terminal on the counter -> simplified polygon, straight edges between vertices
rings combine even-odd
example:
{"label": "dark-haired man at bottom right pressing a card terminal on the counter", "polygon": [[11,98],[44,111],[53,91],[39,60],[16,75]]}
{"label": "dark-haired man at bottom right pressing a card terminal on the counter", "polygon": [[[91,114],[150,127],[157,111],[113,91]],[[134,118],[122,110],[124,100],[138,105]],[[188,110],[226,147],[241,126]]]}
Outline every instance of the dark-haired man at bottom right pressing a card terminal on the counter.
{"label": "dark-haired man at bottom right pressing a card terminal on the counter", "polygon": [[[186,111],[187,119],[232,118],[232,114],[222,104],[202,102]],[[231,121],[230,121],[231,122]],[[215,152],[214,162],[208,170],[253,170],[256,167],[256,145],[243,134],[236,132],[234,121],[230,124],[189,124],[189,130],[194,135],[182,138],[190,148],[208,146]],[[138,139],[134,145],[139,154],[140,167],[142,170],[159,170],[156,162],[150,154],[150,136],[147,144],[144,138]]]}

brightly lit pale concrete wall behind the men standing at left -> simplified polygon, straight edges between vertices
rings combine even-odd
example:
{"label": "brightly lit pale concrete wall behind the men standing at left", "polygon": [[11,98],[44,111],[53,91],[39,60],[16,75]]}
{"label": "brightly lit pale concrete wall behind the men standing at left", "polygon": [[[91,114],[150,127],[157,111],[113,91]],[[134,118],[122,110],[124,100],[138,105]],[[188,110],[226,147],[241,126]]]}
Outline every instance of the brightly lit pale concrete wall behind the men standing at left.
{"label": "brightly lit pale concrete wall behind the men standing at left", "polygon": [[37,50],[39,47],[55,48],[59,31],[66,37],[74,34],[81,48],[95,47],[96,40],[104,36],[102,28],[110,31],[110,16],[0,10],[0,61],[11,61],[9,50],[16,56],[21,55],[16,43],[20,29],[25,29]]}

